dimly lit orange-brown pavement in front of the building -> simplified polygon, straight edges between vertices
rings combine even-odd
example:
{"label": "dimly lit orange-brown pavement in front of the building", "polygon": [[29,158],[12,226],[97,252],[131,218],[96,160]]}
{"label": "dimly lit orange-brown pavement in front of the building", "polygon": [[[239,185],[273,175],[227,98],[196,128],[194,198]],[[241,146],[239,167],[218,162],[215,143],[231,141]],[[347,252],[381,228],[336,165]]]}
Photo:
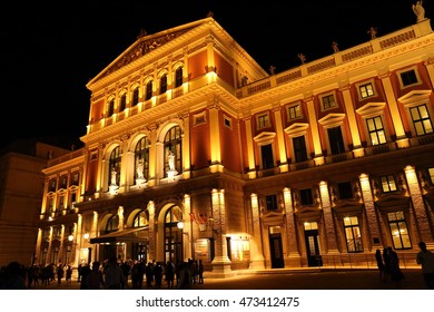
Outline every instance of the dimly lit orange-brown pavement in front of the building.
{"label": "dimly lit orange-brown pavement in front of the building", "polygon": [[[273,269],[262,271],[239,271],[234,276],[225,279],[213,277],[211,272],[205,272],[204,284],[195,284],[193,290],[426,290],[421,269],[403,269],[405,279],[401,283],[383,281],[374,269],[307,269],[286,270]],[[126,290],[131,286],[128,280]],[[65,279],[58,285],[51,281],[49,285],[33,286],[30,290],[79,290],[80,282]],[[146,287],[144,290],[154,290]],[[162,284],[161,290],[169,290]]]}

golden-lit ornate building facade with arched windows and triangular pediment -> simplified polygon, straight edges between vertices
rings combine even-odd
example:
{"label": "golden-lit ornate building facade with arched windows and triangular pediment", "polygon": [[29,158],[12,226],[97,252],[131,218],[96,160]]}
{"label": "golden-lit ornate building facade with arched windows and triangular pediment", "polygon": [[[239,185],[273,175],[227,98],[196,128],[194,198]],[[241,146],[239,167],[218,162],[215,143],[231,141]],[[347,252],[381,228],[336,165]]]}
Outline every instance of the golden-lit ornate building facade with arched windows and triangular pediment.
{"label": "golden-lit ornate building facade with arched windows and triangular pediment", "polygon": [[40,262],[227,276],[434,247],[428,19],[279,74],[213,17],[141,35],[87,84],[85,147],[43,170]]}

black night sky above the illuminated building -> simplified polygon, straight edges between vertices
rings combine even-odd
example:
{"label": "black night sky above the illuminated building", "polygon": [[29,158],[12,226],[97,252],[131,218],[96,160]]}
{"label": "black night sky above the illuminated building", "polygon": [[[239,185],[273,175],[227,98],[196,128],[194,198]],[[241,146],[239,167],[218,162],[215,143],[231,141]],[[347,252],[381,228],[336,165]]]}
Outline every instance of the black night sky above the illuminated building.
{"label": "black night sky above the illuminated building", "polygon": [[[149,35],[214,18],[265,69],[280,72],[416,22],[413,0],[8,2],[0,12],[1,139],[86,134],[89,79]],[[434,0],[424,3],[434,14]],[[65,113],[67,111],[67,115]]]}

